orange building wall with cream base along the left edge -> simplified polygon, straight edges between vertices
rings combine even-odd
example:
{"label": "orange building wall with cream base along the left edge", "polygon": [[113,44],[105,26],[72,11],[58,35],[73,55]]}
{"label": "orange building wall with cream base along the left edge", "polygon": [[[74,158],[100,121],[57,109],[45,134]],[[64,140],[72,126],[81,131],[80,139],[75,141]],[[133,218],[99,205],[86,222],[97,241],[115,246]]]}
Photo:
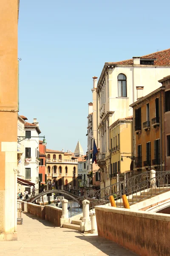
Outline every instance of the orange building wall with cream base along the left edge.
{"label": "orange building wall with cream base along the left edge", "polygon": [[17,239],[19,1],[0,6],[0,241],[6,241]]}

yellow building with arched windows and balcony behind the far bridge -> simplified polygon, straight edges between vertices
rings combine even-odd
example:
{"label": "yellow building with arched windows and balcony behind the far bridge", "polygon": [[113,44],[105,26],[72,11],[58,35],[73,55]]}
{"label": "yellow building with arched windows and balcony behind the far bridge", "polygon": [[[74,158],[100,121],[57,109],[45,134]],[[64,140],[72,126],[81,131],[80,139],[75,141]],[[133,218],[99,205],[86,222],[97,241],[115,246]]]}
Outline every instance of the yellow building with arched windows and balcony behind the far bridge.
{"label": "yellow building with arched windows and balcony behind the far bridge", "polygon": [[71,151],[64,152],[46,149],[47,180],[57,180],[59,189],[67,189],[71,184],[72,189],[78,186],[78,160]]}

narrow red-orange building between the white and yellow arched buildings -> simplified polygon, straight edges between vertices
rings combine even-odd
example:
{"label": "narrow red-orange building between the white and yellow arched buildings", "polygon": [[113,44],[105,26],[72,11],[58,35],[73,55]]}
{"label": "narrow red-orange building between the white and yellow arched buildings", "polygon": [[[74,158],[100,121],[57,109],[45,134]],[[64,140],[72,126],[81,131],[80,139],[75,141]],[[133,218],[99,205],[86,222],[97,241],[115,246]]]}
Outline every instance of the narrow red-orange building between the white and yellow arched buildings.
{"label": "narrow red-orange building between the white and yellow arched buildings", "polygon": [[39,154],[40,154],[40,163],[39,163],[39,187],[40,184],[45,184],[47,182],[47,174],[46,174],[46,146],[42,145],[43,141],[39,140]]}

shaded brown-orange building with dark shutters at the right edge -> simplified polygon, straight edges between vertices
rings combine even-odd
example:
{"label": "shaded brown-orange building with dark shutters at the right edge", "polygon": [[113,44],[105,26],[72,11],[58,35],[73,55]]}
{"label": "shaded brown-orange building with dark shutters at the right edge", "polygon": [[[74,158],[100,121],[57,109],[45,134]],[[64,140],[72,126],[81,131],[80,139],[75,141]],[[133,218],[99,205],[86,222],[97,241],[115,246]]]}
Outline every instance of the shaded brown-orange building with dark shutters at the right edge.
{"label": "shaded brown-orange building with dark shutters at the right edge", "polygon": [[170,76],[162,86],[130,105],[136,173],[170,170]]}

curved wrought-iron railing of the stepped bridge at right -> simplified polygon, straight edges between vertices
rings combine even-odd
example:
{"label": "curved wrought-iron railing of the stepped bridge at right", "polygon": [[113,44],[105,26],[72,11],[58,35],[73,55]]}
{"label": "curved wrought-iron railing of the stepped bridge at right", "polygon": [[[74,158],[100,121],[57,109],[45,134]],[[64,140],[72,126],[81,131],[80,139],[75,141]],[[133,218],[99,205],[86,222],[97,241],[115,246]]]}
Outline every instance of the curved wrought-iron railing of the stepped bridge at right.
{"label": "curved wrought-iron railing of the stepped bridge at right", "polygon": [[[130,199],[130,195],[136,195],[137,199],[148,197],[152,192],[155,192],[155,187],[159,188],[157,190],[161,191],[164,188],[170,186],[170,172],[157,172],[156,177],[150,179],[149,172],[143,172],[139,175],[130,177],[124,181],[114,183],[111,186],[107,186],[103,189],[99,189],[88,193],[87,195],[80,196],[70,202],[70,216],[82,212],[82,201],[88,199],[90,201],[90,207],[94,208],[95,205],[108,204],[109,196],[113,195],[116,204],[120,203],[122,206],[122,195],[125,194]],[[145,191],[147,189],[147,192]],[[151,189],[151,191],[149,191]],[[144,195],[141,193],[144,192]],[[149,193],[151,192],[151,193]],[[137,193],[139,195],[137,195]],[[142,196],[141,196],[142,195]],[[133,201],[133,199],[132,199]]]}

